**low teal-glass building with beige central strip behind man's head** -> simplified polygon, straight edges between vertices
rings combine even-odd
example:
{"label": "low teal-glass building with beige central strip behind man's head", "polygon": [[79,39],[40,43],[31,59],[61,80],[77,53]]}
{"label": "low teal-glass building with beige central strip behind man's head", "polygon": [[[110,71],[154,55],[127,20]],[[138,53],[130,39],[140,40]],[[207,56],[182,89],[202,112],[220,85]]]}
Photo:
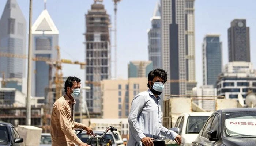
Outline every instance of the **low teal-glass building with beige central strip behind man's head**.
{"label": "low teal-glass building with beige central strip behind man's head", "polygon": [[128,78],[148,77],[151,70],[153,70],[152,61],[131,61],[128,65]]}

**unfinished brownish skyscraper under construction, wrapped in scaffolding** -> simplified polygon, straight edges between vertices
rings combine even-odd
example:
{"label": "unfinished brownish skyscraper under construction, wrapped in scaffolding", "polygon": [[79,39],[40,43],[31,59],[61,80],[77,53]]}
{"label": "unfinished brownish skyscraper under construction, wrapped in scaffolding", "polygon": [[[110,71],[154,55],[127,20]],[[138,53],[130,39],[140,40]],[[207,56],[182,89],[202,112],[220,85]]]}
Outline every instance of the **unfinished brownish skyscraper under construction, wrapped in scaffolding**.
{"label": "unfinished brownish skyscraper under construction, wrapped in scaffolding", "polygon": [[100,87],[93,83],[109,79],[110,74],[110,19],[101,0],[95,0],[86,14],[86,81],[91,87],[86,91],[89,112],[101,113]]}

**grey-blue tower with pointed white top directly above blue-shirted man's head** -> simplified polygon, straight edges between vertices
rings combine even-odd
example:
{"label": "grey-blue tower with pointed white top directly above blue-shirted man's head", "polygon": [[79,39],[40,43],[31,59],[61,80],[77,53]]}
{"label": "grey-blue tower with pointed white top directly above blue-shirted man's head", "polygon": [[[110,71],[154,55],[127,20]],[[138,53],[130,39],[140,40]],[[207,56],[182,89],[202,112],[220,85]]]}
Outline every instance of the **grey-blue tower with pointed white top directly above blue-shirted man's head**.
{"label": "grey-blue tower with pointed white top directly above blue-shirted man's head", "polygon": [[153,62],[153,68],[162,68],[162,46],[161,46],[161,14],[160,4],[155,5],[151,17],[151,29],[148,30],[148,59]]}

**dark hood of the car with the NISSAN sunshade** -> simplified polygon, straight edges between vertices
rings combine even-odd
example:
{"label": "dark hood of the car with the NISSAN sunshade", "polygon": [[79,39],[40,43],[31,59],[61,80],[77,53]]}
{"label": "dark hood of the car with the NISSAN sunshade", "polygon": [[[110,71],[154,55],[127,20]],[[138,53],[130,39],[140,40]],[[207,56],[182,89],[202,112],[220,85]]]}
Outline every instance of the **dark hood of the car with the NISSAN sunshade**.
{"label": "dark hood of the car with the NISSAN sunshade", "polygon": [[256,146],[255,138],[226,137],[223,138],[226,146]]}

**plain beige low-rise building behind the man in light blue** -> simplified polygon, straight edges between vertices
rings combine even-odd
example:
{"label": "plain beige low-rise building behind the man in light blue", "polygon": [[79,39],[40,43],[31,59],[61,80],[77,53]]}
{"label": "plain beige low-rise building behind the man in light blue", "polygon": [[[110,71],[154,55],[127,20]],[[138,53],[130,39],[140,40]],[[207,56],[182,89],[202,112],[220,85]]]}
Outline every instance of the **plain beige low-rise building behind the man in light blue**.
{"label": "plain beige low-rise building behind the man in light blue", "polygon": [[147,77],[101,81],[102,118],[127,118],[134,96],[148,89],[147,82]]}

